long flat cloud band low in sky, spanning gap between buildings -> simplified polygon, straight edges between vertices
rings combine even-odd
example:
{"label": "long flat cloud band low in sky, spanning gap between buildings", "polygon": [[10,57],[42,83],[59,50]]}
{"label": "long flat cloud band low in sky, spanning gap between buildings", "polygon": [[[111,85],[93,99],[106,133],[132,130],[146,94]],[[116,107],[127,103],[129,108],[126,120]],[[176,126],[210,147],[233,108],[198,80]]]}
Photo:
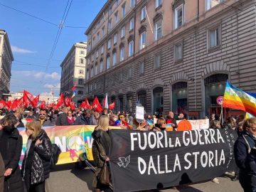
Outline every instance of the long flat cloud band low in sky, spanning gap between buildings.
{"label": "long flat cloud band low in sky, spanning gap between buildings", "polygon": [[14,70],[12,71],[12,73],[20,75],[21,77],[26,76],[30,78],[36,78],[36,79],[45,78],[46,80],[47,79],[60,80],[60,75],[57,72],[44,73],[44,72],[38,72],[34,70],[21,70],[21,71]]}

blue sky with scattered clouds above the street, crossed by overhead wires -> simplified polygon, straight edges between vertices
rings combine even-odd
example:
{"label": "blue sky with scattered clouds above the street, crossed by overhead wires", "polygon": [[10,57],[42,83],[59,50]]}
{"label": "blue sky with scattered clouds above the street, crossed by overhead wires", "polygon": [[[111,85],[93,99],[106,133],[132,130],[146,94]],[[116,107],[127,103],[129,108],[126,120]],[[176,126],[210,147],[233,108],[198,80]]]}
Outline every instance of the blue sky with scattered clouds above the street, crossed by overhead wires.
{"label": "blue sky with scattered clouds above the street, crossed by overhead wires", "polygon": [[[73,0],[65,26],[90,26],[106,1]],[[59,24],[68,0],[0,0],[0,3]],[[50,88],[53,88],[55,96],[58,96],[60,63],[74,43],[86,41],[84,34],[86,28],[63,28],[53,60],[46,70],[58,26],[7,9],[1,4],[0,28],[8,33],[14,54],[10,90],[12,92],[28,90],[33,95],[45,95],[50,92]]]}

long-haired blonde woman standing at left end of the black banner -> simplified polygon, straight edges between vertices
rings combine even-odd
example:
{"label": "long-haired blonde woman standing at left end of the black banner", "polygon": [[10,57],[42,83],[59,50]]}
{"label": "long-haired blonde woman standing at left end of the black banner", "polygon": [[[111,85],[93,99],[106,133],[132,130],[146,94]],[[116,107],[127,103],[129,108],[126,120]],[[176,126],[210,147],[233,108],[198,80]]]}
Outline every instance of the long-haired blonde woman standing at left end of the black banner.
{"label": "long-haired blonde woman standing at left end of the black banner", "polygon": [[107,161],[110,161],[108,157],[109,148],[110,148],[110,136],[108,134],[110,118],[107,115],[102,115],[99,119],[95,131],[92,132],[92,138],[94,139],[92,143],[92,155],[97,166],[97,171],[93,179],[94,191],[111,191],[110,186],[102,185],[97,180],[97,174],[100,173],[100,170]]}

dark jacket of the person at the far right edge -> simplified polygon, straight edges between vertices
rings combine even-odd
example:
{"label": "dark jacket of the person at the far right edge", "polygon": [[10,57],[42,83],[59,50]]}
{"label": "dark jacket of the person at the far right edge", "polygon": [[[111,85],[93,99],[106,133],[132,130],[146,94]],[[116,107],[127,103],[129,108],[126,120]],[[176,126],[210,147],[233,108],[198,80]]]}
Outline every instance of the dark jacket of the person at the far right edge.
{"label": "dark jacket of the person at the far right edge", "polygon": [[242,134],[238,137],[234,146],[235,162],[240,168],[239,181],[245,191],[256,191],[256,149],[248,151]]}

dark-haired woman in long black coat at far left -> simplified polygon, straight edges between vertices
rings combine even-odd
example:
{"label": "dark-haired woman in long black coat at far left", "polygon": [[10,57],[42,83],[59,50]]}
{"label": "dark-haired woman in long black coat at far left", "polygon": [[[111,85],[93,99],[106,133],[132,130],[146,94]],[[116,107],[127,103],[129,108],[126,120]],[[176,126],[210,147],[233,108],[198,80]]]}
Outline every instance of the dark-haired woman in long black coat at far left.
{"label": "dark-haired woman in long black coat at far left", "polygon": [[23,192],[21,170],[18,161],[22,150],[22,137],[15,125],[18,123],[14,114],[7,114],[1,119],[0,153],[4,160],[4,192]]}

